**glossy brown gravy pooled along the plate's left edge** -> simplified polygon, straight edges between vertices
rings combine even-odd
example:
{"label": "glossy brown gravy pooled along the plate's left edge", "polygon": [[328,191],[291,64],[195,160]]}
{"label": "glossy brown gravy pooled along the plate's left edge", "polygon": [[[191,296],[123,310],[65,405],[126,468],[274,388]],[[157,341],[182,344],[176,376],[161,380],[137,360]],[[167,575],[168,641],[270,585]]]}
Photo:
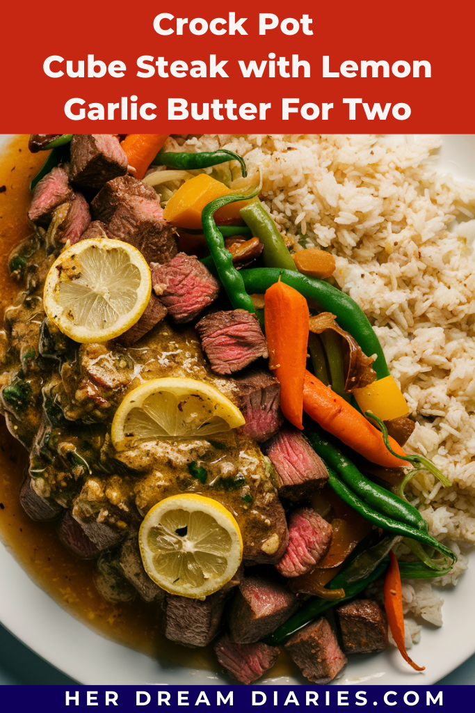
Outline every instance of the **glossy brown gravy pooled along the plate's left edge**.
{"label": "glossy brown gravy pooled along the plate's left edge", "polygon": [[[0,157],[0,308],[14,301],[19,284],[9,276],[8,255],[31,233],[26,219],[31,194],[28,185],[46,159],[46,153],[28,150],[28,135],[19,135]],[[105,637],[149,656],[189,668],[217,670],[212,647],[190,650],[173,644],[161,632],[157,607],[140,600],[111,604],[98,593],[95,563],[75,558],[56,537],[54,523],[30,520],[19,502],[26,466],[26,451],[0,419],[0,537],[15,553],[28,575],[58,604]],[[8,622],[7,622],[8,623]],[[166,652],[166,653],[165,653]],[[283,652],[268,673],[271,677],[296,674]]]}

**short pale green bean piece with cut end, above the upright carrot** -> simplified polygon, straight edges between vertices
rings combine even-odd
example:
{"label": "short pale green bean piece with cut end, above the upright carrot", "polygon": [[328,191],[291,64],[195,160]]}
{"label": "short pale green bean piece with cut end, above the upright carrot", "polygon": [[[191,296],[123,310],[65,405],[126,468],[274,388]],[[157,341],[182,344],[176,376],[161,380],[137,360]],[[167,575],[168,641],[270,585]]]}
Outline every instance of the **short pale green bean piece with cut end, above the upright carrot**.
{"label": "short pale green bean piece with cut end, above the upright carrot", "polygon": [[297,272],[296,264],[293,262],[275,222],[273,222],[261,201],[245,205],[239,212],[246,225],[251,228],[252,235],[259,237],[264,246],[262,251],[263,264],[266,267],[283,267],[284,270]]}

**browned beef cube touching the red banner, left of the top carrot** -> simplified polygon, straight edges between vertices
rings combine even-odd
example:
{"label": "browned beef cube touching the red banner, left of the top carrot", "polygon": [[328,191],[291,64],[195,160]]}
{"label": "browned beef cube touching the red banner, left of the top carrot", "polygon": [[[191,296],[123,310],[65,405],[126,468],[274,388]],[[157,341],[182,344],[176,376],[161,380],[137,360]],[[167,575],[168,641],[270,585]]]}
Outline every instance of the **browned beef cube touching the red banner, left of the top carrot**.
{"label": "browned beef cube touching the red banner, left of the top carrot", "polygon": [[71,140],[71,183],[99,190],[108,180],[127,173],[127,155],[112,134],[75,134]]}

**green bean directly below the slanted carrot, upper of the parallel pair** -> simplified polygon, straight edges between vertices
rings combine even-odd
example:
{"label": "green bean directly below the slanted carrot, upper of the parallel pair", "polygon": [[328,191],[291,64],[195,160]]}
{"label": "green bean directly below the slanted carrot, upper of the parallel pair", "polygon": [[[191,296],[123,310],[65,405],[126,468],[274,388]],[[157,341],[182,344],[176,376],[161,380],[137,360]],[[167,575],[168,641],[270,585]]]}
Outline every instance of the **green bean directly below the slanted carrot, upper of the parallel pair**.
{"label": "green bean directly below the slanted carrot, upper of the parallel pair", "polygon": [[367,506],[374,508],[381,515],[398,520],[422,532],[427,532],[427,522],[421,513],[407,501],[391,491],[370,481],[340,451],[335,441],[318,426],[306,426],[305,435],[315,453],[323,458],[327,466],[333,468],[348,488],[361,498]]}

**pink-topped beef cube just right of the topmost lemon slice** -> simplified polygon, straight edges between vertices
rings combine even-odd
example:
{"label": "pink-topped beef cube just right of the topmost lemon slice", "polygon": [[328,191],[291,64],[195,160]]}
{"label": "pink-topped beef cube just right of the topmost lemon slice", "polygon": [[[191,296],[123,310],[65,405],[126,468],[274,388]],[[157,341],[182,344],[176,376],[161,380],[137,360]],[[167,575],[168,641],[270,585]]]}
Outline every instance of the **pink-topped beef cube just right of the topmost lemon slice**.
{"label": "pink-topped beef cube just right of the topmost lemon slice", "polygon": [[194,255],[179,252],[167,265],[150,265],[155,294],[175,322],[190,322],[218,296],[219,282]]}

